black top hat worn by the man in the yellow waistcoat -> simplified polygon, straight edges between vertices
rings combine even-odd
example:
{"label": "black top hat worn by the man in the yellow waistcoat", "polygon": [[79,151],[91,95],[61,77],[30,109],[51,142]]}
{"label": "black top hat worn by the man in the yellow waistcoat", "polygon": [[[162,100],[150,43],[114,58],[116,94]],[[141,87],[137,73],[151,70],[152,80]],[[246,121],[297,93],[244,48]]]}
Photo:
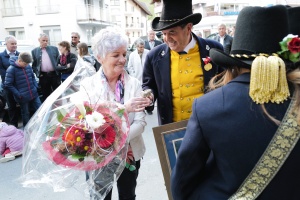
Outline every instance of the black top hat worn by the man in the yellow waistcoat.
{"label": "black top hat worn by the man in the yellow waistcoat", "polygon": [[152,29],[161,31],[186,23],[198,24],[202,18],[200,13],[193,14],[192,0],[163,0],[161,17],[152,21]]}

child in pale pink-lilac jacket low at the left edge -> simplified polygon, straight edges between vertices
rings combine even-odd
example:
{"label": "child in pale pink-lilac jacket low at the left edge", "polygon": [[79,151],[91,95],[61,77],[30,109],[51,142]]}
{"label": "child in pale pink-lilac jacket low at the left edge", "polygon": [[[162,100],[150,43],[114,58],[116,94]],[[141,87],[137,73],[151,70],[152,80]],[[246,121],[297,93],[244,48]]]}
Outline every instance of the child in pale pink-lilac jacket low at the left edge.
{"label": "child in pale pink-lilac jacket low at the left edge", "polygon": [[0,163],[14,160],[22,155],[24,133],[13,125],[0,122]]}

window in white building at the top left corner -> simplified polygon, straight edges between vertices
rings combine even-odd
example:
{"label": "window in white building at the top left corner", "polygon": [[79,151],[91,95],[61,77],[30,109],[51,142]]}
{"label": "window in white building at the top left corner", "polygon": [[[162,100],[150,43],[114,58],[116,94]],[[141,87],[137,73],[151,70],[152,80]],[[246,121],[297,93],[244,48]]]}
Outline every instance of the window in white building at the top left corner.
{"label": "window in white building at the top left corner", "polygon": [[23,15],[23,9],[21,8],[20,0],[3,0],[3,4],[3,17]]}

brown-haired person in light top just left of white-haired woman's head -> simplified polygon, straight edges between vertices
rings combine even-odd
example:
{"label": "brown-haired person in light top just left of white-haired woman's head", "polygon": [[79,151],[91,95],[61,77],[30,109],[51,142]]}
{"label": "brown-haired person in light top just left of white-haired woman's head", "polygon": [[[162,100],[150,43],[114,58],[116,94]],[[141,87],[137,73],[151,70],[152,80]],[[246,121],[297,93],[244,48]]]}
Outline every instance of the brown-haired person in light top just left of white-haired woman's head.
{"label": "brown-haired person in light top just left of white-haired woman's head", "polygon": [[74,71],[85,68],[88,74],[93,75],[96,73],[96,60],[94,56],[89,54],[88,45],[84,42],[77,44],[77,51],[78,51],[78,60],[76,62]]}

